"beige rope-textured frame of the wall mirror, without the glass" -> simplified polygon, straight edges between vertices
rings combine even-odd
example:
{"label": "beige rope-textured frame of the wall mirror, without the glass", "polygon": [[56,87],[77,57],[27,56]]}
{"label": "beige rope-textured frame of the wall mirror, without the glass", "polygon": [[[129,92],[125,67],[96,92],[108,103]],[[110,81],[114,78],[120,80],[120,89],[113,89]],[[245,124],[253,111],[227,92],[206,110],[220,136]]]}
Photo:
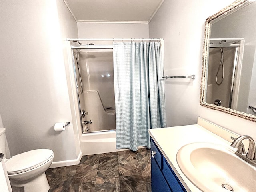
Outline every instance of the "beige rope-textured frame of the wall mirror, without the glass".
{"label": "beige rope-textured frame of the wall mirror, without the glass", "polygon": [[241,118],[244,118],[246,120],[254,121],[256,122],[256,116],[247,114],[244,112],[239,112],[230,108],[225,108],[222,106],[217,106],[214,104],[208,104],[206,103],[206,86],[207,86],[207,70],[208,70],[208,52],[209,52],[209,38],[210,38],[210,28],[211,28],[211,21],[218,18],[221,15],[228,14],[228,12],[231,12],[235,10],[236,8],[239,8],[240,6],[246,4],[248,0],[236,0],[226,8],[220,10],[218,13],[210,16],[206,19],[205,22],[205,30],[204,30],[204,49],[203,49],[203,64],[202,64],[202,79],[201,79],[201,92],[200,92],[200,104],[202,106],[205,106],[207,108],[211,108],[214,110],[222,111],[231,115],[235,115]]}

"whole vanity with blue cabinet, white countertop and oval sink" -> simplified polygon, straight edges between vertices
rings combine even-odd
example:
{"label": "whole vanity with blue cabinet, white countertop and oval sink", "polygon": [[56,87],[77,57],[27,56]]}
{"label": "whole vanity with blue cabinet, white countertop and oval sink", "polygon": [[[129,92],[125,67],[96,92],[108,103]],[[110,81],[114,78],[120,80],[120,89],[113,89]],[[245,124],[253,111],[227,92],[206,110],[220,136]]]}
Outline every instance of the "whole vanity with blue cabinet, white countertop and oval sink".
{"label": "whole vanity with blue cabinet, white countertop and oval sink", "polygon": [[[230,146],[237,134],[202,118],[149,133],[152,192],[256,191],[256,167]],[[248,150],[248,140],[243,144]]]}

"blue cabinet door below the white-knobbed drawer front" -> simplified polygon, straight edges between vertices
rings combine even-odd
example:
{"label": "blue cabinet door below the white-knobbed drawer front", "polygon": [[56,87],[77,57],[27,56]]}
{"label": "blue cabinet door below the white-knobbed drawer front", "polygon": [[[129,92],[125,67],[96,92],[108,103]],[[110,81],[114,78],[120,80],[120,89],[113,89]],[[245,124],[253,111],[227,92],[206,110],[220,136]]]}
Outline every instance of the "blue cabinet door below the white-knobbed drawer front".
{"label": "blue cabinet door below the white-knobbed drawer front", "polygon": [[151,190],[152,192],[172,192],[158,167],[155,158],[151,157]]}

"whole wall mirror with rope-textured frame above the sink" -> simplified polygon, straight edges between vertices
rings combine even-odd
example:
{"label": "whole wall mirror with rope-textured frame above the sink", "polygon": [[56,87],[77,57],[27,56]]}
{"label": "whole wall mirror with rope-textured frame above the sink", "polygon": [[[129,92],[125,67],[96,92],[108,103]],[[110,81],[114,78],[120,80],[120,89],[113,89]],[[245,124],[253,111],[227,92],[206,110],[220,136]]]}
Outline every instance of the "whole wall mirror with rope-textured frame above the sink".
{"label": "whole wall mirror with rope-textured frame above the sink", "polygon": [[200,104],[256,122],[256,2],[206,20]]}

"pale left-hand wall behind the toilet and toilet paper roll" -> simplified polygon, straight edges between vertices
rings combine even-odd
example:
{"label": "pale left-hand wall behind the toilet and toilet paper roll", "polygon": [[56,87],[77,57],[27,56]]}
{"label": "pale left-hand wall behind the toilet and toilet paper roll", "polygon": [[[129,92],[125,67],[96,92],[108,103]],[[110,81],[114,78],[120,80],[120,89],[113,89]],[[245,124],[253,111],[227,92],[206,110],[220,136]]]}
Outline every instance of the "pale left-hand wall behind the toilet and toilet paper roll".
{"label": "pale left-hand wall behind the toilet and toilet paper roll", "polygon": [[56,122],[72,123],[62,40],[78,36],[75,21],[62,0],[0,0],[0,23],[0,113],[11,155],[49,148],[55,162],[76,159],[72,126],[54,132]]}

